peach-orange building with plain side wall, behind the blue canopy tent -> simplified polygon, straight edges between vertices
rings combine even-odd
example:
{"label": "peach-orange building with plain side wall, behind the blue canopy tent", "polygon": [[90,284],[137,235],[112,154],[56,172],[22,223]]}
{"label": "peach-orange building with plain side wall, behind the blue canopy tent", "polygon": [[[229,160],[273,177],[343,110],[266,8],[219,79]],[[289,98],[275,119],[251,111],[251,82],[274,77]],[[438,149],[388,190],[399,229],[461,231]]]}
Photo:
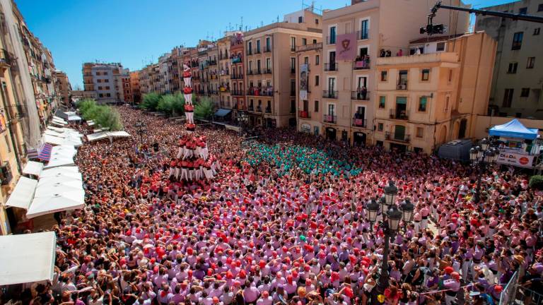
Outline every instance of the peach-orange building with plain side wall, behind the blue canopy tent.
{"label": "peach-orange building with plain side wall, behind the blue canopy tent", "polygon": [[[484,32],[421,42],[375,62],[373,140],[388,150],[430,154],[472,137],[474,118],[486,114],[496,42]],[[355,134],[354,143],[360,140]]]}

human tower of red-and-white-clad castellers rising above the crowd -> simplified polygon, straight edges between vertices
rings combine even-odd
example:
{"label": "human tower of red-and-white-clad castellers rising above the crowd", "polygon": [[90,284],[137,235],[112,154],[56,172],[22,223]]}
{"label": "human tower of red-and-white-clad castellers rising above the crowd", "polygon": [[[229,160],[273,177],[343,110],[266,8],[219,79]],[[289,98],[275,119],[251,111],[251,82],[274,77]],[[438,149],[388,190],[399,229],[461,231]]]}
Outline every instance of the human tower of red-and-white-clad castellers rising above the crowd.
{"label": "human tower of red-and-white-clad castellers rising above the crowd", "polygon": [[194,134],[194,104],[192,104],[192,75],[187,64],[183,64],[183,93],[185,95],[186,133],[179,140],[177,155],[170,162],[170,178],[179,181],[211,180],[220,169],[216,157],[209,154],[206,136]]}

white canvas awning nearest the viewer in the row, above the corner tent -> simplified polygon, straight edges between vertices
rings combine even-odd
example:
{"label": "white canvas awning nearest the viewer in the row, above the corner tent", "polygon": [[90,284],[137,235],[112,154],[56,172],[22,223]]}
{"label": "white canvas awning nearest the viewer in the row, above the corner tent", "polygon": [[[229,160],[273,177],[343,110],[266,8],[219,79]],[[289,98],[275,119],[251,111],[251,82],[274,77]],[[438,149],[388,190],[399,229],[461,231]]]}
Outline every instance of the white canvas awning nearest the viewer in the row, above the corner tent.
{"label": "white canvas awning nearest the viewer in the row, above the corner tent", "polygon": [[66,186],[47,186],[36,189],[34,200],[26,213],[27,218],[75,210],[85,206],[85,191]]}

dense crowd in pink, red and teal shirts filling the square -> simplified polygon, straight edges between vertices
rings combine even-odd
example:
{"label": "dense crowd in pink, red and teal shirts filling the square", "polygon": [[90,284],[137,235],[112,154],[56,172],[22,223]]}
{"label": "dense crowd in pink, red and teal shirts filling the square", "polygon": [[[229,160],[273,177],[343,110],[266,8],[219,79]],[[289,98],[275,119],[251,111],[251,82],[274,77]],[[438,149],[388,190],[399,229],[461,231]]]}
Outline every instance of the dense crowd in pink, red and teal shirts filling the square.
{"label": "dense crowd in pink, red and teal shirts filling the square", "polygon": [[378,304],[493,304],[515,273],[543,291],[543,194],[522,174],[489,170],[474,202],[477,172],[459,162],[197,127],[221,171],[187,184],[170,176],[182,128],[119,112],[129,133],[145,122],[144,143],[80,148],[86,208],[53,228],[54,280],[23,304],[370,304],[384,237],[364,208],[390,182],[416,209],[391,240]]}

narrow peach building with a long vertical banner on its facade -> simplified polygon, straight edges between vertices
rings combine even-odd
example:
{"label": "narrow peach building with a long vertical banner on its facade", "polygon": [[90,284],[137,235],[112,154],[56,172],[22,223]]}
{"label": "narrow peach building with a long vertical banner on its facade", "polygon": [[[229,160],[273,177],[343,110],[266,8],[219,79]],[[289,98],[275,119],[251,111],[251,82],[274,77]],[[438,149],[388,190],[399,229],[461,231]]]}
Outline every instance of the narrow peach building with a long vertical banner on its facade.
{"label": "narrow peach building with a long vertical banner on its facade", "polygon": [[296,47],[297,130],[322,133],[322,42]]}

